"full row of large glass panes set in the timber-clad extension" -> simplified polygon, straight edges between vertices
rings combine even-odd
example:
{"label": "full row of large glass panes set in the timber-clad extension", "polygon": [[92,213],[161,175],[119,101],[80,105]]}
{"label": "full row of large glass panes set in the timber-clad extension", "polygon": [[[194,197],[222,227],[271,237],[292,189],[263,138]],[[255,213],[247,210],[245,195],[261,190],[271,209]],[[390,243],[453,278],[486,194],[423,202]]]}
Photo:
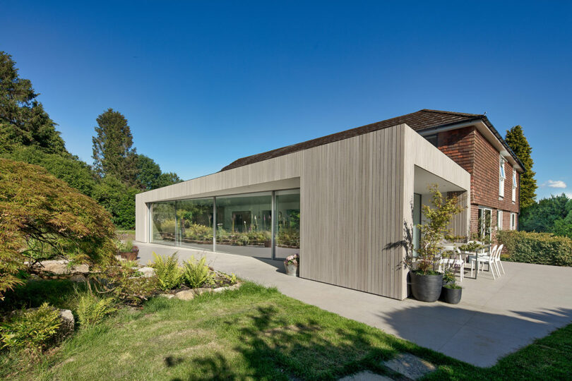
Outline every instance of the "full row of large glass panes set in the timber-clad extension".
{"label": "full row of large glass panes set in the timber-clad extension", "polygon": [[274,241],[275,259],[300,250],[299,189],[153,202],[150,219],[153,243],[273,258]]}

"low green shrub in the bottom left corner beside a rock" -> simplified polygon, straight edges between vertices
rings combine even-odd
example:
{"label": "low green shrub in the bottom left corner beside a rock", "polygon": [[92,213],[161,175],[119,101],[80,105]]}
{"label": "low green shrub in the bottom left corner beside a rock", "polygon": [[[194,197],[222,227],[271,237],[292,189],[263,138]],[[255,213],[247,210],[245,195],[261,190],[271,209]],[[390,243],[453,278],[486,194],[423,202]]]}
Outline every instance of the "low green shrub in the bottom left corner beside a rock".
{"label": "low green shrub in the bottom left corner beside a rock", "polygon": [[60,325],[59,310],[48,303],[33,310],[23,309],[0,325],[2,348],[42,351]]}

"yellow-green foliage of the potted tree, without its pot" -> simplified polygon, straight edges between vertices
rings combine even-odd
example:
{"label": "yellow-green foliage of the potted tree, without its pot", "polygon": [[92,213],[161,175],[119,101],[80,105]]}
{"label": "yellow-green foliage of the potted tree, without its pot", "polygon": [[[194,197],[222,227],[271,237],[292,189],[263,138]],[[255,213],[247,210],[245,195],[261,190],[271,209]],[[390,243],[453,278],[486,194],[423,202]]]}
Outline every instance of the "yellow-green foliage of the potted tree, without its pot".
{"label": "yellow-green foliage of the potted tree, without its pot", "polygon": [[458,205],[458,199],[452,197],[445,200],[436,184],[429,187],[429,192],[432,195],[431,206],[422,205],[422,212],[427,222],[417,225],[421,235],[417,248],[419,258],[417,271],[423,274],[436,272],[442,249],[441,243],[446,235],[451,234],[449,223],[455,214],[463,212],[463,207]]}

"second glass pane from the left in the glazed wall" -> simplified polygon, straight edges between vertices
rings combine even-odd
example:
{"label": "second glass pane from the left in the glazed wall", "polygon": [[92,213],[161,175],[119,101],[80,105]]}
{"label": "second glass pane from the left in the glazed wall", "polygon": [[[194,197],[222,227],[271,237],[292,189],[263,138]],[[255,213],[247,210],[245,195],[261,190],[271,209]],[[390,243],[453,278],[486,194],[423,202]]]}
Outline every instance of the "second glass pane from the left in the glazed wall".
{"label": "second glass pane from the left in the glazed wall", "polygon": [[177,201],[177,246],[213,250],[213,198]]}

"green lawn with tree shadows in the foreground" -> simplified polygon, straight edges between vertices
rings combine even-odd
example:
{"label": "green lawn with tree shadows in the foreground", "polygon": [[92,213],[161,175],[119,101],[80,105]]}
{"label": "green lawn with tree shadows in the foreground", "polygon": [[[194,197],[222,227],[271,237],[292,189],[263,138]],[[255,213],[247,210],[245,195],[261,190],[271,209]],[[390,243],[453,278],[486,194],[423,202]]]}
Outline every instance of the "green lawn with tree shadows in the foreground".
{"label": "green lawn with tree shadows in the foreground", "polygon": [[[18,377],[318,380],[369,369],[398,378],[380,363],[405,351],[438,366],[431,380],[564,379],[572,374],[572,325],[484,369],[276,289],[246,283],[237,291],[203,294],[193,301],[154,298],[142,309],[124,308],[101,325],[80,329],[35,365],[24,365],[28,368]],[[15,364],[13,356],[4,353],[0,377],[14,377]]]}

